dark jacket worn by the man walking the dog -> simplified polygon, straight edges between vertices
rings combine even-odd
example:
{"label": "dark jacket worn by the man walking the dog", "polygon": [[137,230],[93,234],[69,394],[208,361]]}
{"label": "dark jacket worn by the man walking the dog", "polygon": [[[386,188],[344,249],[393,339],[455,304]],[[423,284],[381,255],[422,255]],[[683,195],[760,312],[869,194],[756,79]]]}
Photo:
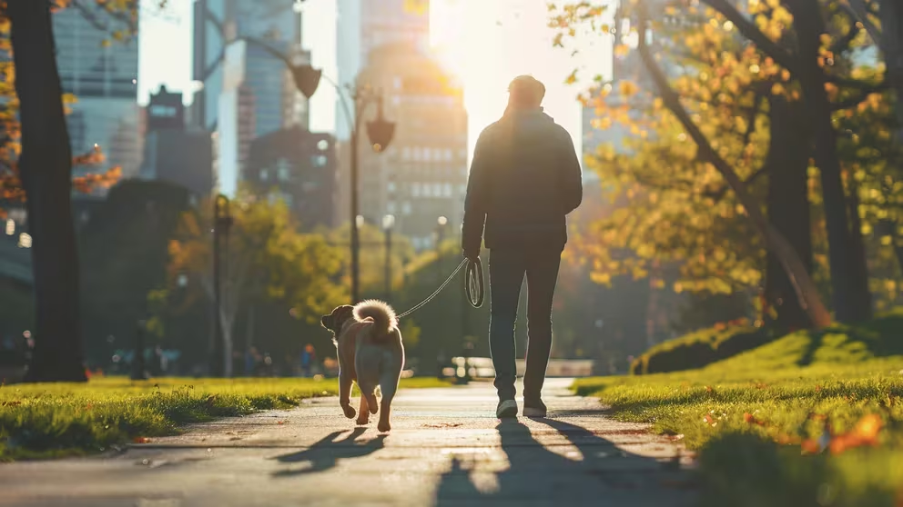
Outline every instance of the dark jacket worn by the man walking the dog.
{"label": "dark jacket worn by the man walking the dog", "polygon": [[557,248],[583,200],[580,160],[571,135],[541,108],[506,112],[477,140],[467,183],[462,248]]}

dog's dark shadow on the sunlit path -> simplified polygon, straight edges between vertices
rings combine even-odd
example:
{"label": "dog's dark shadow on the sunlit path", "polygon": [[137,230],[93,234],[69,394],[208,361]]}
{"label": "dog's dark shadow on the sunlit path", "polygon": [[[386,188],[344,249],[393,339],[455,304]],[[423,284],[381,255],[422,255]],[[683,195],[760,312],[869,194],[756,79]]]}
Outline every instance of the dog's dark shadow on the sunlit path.
{"label": "dog's dark shadow on the sunlit path", "polygon": [[290,454],[272,458],[283,463],[309,462],[309,466],[300,469],[286,469],[273,472],[273,477],[293,477],[308,473],[325,472],[335,467],[339,460],[362,458],[377,452],[385,446],[386,435],[382,434],[370,440],[357,442],[367,428],[358,427],[345,438],[338,439],[345,432],[331,432],[309,448]]}

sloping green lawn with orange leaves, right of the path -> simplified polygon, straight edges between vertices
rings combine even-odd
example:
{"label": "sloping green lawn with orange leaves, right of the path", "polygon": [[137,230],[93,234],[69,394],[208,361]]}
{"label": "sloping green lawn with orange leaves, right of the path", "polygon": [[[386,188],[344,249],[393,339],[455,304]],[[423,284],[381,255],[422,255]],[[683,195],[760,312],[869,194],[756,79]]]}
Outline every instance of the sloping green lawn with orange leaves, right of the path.
{"label": "sloping green lawn with orange leaves, right of the path", "polygon": [[698,451],[705,505],[900,506],[900,321],[794,333],[701,370],[574,390]]}

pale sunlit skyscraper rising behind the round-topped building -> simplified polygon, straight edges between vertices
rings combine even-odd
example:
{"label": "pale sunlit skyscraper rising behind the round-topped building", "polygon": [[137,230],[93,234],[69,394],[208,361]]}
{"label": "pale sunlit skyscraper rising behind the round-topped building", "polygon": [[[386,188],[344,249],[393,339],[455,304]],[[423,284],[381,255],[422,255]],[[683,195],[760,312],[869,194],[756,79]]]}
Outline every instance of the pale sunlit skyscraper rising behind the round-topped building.
{"label": "pale sunlit skyscraper rising behind the round-topped building", "polygon": [[[380,45],[404,42],[421,51],[430,44],[429,0],[338,0],[337,56],[339,84],[355,84],[370,53]],[[336,104],[337,108],[341,104]],[[350,137],[342,111],[336,114],[336,136]]]}

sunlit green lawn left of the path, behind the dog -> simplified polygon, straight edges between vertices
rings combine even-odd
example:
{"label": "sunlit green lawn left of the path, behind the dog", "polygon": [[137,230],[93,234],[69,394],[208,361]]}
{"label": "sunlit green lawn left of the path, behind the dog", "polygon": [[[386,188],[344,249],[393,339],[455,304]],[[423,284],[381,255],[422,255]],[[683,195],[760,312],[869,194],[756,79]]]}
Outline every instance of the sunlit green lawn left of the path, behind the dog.
{"label": "sunlit green lawn left of the path, behind the dog", "polygon": [[[403,387],[448,385],[403,379]],[[15,384],[0,387],[0,461],[103,452],[135,439],[172,435],[190,422],[285,409],[334,395],[326,379],[178,379]]]}

